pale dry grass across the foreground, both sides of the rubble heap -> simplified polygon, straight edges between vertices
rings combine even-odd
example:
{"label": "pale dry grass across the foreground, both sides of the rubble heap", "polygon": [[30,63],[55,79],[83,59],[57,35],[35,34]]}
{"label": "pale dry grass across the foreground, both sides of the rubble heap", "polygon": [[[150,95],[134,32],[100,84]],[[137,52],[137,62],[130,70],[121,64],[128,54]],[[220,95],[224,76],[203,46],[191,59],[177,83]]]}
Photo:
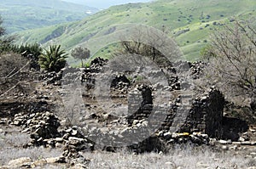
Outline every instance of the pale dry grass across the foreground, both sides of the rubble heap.
{"label": "pale dry grass across the foreground, both sides of the rubble heap", "polygon": [[[43,147],[23,148],[29,142],[28,135],[20,132],[12,134],[0,133],[0,166],[9,161],[30,157],[33,161],[56,157],[62,154],[61,149],[45,149]],[[96,151],[84,152],[86,159],[90,160],[89,168],[98,169],[167,169],[167,168],[247,168],[256,166],[256,157],[249,157],[250,152],[256,148],[241,151],[217,151],[208,146],[194,147],[192,145],[176,145],[170,148],[168,154],[161,152],[136,155],[127,149],[120,149],[116,153]],[[65,168],[61,165],[46,165],[44,168]],[[40,168],[38,166],[38,168]]]}

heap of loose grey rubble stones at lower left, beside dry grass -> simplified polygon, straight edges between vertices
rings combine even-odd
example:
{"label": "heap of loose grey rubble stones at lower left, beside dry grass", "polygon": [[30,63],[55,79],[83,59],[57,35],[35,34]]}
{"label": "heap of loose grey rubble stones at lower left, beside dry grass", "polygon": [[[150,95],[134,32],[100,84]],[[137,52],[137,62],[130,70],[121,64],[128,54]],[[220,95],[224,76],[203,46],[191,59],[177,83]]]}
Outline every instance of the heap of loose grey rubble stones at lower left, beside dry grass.
{"label": "heap of loose grey rubble stones at lower left, beside dry grass", "polygon": [[68,159],[80,158],[79,151],[91,151],[94,143],[84,138],[78,127],[67,128],[58,131],[60,122],[58,118],[49,112],[34,113],[30,115],[17,114],[12,123],[22,127],[30,134],[31,143],[26,146],[41,146],[46,148],[63,148],[63,156]]}

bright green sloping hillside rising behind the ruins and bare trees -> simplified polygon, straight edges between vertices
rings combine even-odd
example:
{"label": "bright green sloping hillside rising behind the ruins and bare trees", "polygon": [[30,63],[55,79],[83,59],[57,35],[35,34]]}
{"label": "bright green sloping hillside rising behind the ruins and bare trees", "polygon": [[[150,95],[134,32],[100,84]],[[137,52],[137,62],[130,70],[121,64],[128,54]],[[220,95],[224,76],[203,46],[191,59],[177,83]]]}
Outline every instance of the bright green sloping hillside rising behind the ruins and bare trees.
{"label": "bright green sloping hillside rising behind the ruins and bare trees", "polygon": [[[184,58],[196,60],[207,44],[212,28],[237,18],[255,16],[254,0],[159,0],[153,3],[130,3],[113,6],[93,14],[84,20],[22,31],[20,42],[53,42],[72,49],[89,39],[110,36],[123,27],[143,24],[161,29],[163,25],[170,37],[174,37],[183,51]],[[129,23],[130,25],[125,25]],[[108,38],[108,37],[107,37]],[[106,55],[112,47],[102,48]]]}

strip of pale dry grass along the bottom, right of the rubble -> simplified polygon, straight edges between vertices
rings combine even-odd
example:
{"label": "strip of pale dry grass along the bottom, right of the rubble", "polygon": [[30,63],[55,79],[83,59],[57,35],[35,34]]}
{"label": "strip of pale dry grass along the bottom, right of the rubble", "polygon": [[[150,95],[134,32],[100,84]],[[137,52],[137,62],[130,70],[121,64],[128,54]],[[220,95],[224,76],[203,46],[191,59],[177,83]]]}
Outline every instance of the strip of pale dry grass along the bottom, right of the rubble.
{"label": "strip of pale dry grass along the bottom, right of the rubble", "polygon": [[208,147],[177,146],[168,155],[148,153],[134,155],[122,150],[118,153],[84,153],[90,159],[89,168],[247,168],[256,166],[251,158],[231,152],[214,152]]}

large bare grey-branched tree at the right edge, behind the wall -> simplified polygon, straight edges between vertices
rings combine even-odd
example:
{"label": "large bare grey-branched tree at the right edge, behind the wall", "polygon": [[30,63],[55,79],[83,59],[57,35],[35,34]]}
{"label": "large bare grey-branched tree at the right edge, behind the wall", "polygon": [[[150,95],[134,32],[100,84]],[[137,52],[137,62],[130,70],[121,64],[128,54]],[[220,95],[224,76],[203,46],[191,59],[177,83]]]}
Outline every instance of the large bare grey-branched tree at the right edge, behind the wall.
{"label": "large bare grey-branched tree at the right edge, behind the wall", "polygon": [[[206,75],[228,98],[235,101],[256,96],[256,29],[252,23],[224,25],[211,37],[212,55]],[[237,102],[236,101],[236,102]],[[241,103],[239,103],[241,104]]]}

